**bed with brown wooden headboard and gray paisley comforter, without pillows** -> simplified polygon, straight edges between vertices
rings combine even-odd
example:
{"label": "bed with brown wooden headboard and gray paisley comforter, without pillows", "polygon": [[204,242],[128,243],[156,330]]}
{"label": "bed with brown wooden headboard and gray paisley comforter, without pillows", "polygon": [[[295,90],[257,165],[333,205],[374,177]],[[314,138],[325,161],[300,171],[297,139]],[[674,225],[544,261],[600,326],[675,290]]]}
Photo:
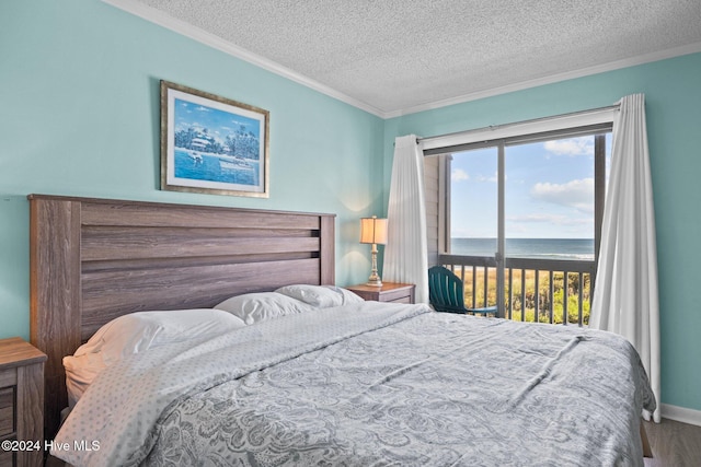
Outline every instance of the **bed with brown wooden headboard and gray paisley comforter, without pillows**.
{"label": "bed with brown wooden headboard and gray paisley comforter, without pillows", "polygon": [[329,214],[30,199],[46,433],[68,406],[61,359],[115,318],[242,295],[303,305],[110,366],[56,437],[97,441],[54,451],[76,465],[643,464],[655,401],[614,335],[350,300]]}

